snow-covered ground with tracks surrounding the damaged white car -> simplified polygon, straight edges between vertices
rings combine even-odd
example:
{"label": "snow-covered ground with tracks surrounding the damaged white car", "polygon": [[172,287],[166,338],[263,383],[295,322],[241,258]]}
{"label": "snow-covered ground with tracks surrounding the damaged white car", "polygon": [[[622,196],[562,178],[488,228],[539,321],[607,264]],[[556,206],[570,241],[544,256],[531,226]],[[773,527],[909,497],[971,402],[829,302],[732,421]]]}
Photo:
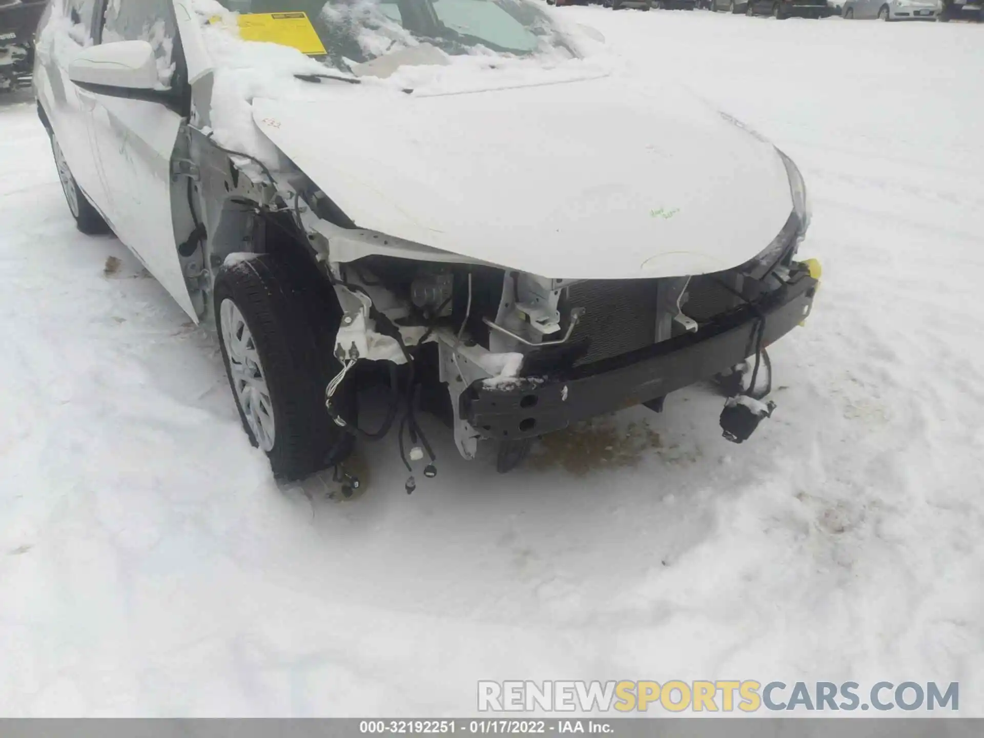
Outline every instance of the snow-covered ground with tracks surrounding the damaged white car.
{"label": "snow-covered ground with tracks surrounding the damaged white car", "polygon": [[280,488],[215,338],[0,108],[0,714],[461,714],[548,678],[959,681],[984,714],[984,29],[557,12],[803,170],[826,272],[773,418],[728,444],[696,387],[509,476],[435,426],[412,496],[388,444],[356,500]]}

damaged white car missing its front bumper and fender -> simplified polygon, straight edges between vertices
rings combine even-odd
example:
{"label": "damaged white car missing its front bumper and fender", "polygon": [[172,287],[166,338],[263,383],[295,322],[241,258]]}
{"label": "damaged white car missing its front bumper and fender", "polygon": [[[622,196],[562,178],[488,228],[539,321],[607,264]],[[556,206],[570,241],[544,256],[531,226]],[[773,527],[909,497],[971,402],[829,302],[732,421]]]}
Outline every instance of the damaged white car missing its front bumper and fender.
{"label": "damaged white car missing its front bumper and fender", "polygon": [[72,214],[214,318],[278,475],[397,433],[409,491],[437,473],[422,410],[508,470],[743,362],[724,436],[770,413],[765,347],[820,277],[799,171],[558,23],[530,0],[51,0],[34,85]]}

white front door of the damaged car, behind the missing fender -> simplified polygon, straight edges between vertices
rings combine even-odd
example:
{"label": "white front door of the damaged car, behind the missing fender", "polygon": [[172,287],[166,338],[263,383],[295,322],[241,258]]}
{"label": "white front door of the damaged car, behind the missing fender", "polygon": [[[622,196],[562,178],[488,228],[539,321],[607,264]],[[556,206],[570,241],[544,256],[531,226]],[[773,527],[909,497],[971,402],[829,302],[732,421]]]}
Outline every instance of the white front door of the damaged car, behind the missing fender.
{"label": "white front door of the damaged car, behind the missing fender", "polygon": [[191,104],[171,0],[98,0],[96,43],[146,40],[154,46],[162,87],[157,102],[79,91],[92,104],[96,165],[113,230],[193,319],[171,207],[171,157]]}

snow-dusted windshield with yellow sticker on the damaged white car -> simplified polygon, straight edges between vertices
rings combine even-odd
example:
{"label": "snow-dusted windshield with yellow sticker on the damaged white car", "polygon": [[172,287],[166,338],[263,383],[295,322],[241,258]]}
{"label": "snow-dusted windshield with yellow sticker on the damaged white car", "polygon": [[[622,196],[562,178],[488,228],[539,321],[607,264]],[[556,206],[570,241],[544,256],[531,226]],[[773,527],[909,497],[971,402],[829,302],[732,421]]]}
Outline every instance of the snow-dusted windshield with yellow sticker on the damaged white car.
{"label": "snow-dusted windshield with yellow sticker on the damaged white car", "polygon": [[[290,14],[305,13],[320,43],[312,56],[333,66],[371,61],[384,54],[430,43],[448,54],[529,56],[563,49],[576,56],[550,19],[528,0],[220,0],[240,16],[244,38],[282,40],[266,14],[281,24]],[[306,23],[292,17],[294,24]],[[260,27],[267,31],[258,31]],[[310,28],[307,32],[310,33]],[[266,35],[265,35],[266,33]],[[295,37],[300,37],[295,35]]]}

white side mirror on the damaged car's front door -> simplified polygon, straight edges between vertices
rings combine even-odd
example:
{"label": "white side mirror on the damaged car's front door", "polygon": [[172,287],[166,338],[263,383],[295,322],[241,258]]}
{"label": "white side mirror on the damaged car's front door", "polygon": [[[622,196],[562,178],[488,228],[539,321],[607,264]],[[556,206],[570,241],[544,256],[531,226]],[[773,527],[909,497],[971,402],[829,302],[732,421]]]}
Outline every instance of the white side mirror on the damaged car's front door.
{"label": "white side mirror on the damaged car's front door", "polygon": [[68,76],[84,90],[119,97],[165,92],[154,47],[147,41],[112,41],[83,49],[69,64]]}

